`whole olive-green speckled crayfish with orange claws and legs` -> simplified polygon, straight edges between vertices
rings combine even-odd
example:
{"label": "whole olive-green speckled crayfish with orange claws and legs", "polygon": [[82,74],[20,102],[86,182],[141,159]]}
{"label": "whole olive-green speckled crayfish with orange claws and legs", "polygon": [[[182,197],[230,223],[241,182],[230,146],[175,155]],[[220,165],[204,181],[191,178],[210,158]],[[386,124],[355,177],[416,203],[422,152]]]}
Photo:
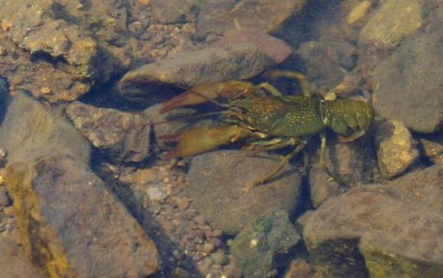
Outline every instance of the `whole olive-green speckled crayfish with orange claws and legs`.
{"label": "whole olive-green speckled crayfish with orange claws and legs", "polygon": [[[228,81],[196,86],[164,103],[163,111],[204,101],[225,108],[217,113],[221,115],[220,125],[185,130],[174,138],[177,146],[165,157],[198,155],[237,141],[244,141],[246,149],[253,151],[293,146],[293,150],[281,158],[280,164],[269,175],[252,184],[256,185],[276,177],[311,137],[320,135],[318,165],[337,180],[338,177],[332,175],[325,164],[325,130],[329,128],[345,140],[354,141],[370,127],[374,118],[372,107],[365,101],[337,99],[333,93],[325,98],[311,94],[309,82],[300,73],[272,71],[269,77],[298,79],[302,96],[283,96],[269,83],[254,86],[250,82]],[[228,101],[215,101],[219,96]]]}

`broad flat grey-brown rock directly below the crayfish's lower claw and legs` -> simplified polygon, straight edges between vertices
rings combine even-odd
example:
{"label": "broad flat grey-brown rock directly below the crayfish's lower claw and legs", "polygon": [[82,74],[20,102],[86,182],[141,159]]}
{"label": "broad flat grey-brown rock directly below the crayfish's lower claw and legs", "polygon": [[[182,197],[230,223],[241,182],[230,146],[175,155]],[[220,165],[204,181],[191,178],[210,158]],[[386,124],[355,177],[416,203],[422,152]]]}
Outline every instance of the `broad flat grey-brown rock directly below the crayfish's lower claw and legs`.
{"label": "broad flat grey-brown rock directly below the crayfish's lower claw and legs", "polygon": [[251,182],[265,177],[279,163],[275,156],[221,150],[192,159],[189,184],[183,191],[211,227],[237,234],[267,209],[289,214],[298,206],[301,174],[289,166],[275,180],[244,192]]}

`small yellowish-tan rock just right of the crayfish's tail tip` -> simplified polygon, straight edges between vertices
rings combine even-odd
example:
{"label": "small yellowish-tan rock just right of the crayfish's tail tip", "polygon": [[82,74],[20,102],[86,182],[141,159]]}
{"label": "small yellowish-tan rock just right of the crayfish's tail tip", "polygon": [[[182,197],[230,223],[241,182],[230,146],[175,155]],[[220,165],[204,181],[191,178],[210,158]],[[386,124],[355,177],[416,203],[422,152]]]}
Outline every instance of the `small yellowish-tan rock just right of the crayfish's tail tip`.
{"label": "small yellowish-tan rock just right of the crayfish's tail tip", "polygon": [[384,177],[400,175],[419,158],[412,135],[400,121],[378,123],[375,138],[379,169]]}

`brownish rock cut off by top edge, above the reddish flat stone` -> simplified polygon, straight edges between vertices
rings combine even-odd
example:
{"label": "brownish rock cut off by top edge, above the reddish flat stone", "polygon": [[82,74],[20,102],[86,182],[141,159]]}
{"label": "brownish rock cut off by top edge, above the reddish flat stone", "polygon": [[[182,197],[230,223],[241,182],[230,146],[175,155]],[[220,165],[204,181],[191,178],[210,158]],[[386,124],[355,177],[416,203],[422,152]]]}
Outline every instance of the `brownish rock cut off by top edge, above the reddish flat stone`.
{"label": "brownish rock cut off by top edge, above the reddish flat stone", "polygon": [[[228,2],[228,3],[221,3]],[[203,1],[197,18],[197,37],[223,35],[235,29],[276,31],[291,15],[300,12],[305,0]]]}

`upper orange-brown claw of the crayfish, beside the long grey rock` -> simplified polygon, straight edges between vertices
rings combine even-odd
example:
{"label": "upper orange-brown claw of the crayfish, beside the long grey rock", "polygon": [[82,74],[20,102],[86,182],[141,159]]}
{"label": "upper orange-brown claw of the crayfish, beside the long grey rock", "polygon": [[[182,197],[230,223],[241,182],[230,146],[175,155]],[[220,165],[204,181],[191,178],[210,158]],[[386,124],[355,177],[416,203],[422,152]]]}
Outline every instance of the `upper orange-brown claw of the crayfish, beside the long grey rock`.
{"label": "upper orange-brown claw of the crayfish, beside the long grey rock", "polygon": [[251,82],[230,80],[204,83],[166,101],[163,103],[160,112],[165,113],[177,107],[205,103],[219,97],[234,98],[239,95],[255,93],[257,93],[257,89]]}

